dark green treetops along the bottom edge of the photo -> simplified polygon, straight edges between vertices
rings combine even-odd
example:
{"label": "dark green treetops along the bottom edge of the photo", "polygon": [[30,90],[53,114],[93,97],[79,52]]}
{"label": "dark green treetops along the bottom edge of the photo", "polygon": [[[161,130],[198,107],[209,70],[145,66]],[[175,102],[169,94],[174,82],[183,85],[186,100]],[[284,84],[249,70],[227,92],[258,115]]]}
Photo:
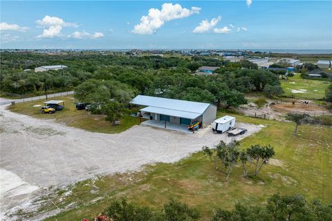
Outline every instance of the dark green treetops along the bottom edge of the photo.
{"label": "dark green treetops along the bottom edge of the photo", "polygon": [[[217,209],[211,217],[213,221],[327,221],[332,220],[332,204],[322,204],[317,200],[307,202],[301,195],[277,193],[269,197],[266,204],[237,203],[233,210]],[[200,218],[199,210],[176,200],[164,204],[161,211],[153,211],[122,199],[113,200],[96,220],[194,221]]]}

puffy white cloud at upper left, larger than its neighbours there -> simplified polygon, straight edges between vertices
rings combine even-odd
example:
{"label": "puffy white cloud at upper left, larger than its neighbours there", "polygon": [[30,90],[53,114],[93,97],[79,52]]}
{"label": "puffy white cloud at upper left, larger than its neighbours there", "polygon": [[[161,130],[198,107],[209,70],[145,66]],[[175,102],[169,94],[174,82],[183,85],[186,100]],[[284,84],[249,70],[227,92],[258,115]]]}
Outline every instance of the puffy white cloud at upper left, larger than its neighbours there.
{"label": "puffy white cloud at upper left, larger than its neighbours there", "polygon": [[38,35],[37,38],[57,37],[61,35],[63,27],[78,27],[76,23],[65,22],[63,19],[58,17],[50,17],[48,15],[46,15],[42,20],[37,20],[36,23],[45,28],[42,35]]}

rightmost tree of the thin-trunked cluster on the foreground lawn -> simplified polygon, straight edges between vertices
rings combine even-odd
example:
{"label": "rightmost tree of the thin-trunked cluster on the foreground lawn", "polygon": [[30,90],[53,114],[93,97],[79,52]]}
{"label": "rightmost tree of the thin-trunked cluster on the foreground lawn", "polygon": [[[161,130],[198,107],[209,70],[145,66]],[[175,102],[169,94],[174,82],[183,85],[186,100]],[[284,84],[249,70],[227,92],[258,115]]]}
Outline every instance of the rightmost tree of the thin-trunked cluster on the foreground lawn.
{"label": "rightmost tree of the thin-trunked cluster on the foreground lawn", "polygon": [[248,156],[255,162],[254,175],[258,175],[259,171],[261,171],[261,167],[266,164],[271,157],[275,155],[274,148],[270,146],[270,144],[266,146],[255,144],[250,146],[250,148],[248,148],[246,152]]}

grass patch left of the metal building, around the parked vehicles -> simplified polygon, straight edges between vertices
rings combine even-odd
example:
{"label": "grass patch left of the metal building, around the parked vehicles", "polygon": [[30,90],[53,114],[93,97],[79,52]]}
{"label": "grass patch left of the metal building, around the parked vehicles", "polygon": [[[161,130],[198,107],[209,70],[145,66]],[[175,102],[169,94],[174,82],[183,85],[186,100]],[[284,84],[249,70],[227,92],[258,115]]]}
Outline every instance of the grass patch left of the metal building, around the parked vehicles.
{"label": "grass patch left of the metal building, around the parked vehicles", "polygon": [[98,133],[120,133],[131,128],[131,126],[140,124],[140,119],[138,117],[124,116],[120,119],[120,125],[113,126],[111,122],[105,121],[104,115],[91,115],[88,111],[76,110],[74,98],[72,96],[52,97],[50,99],[63,100],[64,109],[53,114],[42,114],[40,113],[40,107],[34,107],[34,105],[38,104],[44,106],[43,102],[45,100],[41,99],[40,101],[15,104],[10,111],[40,119],[55,119],[56,122],[64,123],[67,126],[73,126],[75,128]]}

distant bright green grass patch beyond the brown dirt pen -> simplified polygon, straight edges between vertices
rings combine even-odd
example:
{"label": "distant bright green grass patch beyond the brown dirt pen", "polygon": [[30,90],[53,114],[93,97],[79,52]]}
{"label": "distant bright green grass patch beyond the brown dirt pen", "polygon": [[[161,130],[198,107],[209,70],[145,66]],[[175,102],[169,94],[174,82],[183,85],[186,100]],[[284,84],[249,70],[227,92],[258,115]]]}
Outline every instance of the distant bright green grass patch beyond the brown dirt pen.
{"label": "distant bright green grass patch beyond the brown dirt pen", "polygon": [[[324,81],[302,79],[300,74],[295,74],[294,77],[289,77],[288,80],[281,79],[282,88],[286,96],[292,96],[302,99],[324,99],[325,90],[329,84],[324,84]],[[292,90],[304,89],[305,93],[292,93]]]}

